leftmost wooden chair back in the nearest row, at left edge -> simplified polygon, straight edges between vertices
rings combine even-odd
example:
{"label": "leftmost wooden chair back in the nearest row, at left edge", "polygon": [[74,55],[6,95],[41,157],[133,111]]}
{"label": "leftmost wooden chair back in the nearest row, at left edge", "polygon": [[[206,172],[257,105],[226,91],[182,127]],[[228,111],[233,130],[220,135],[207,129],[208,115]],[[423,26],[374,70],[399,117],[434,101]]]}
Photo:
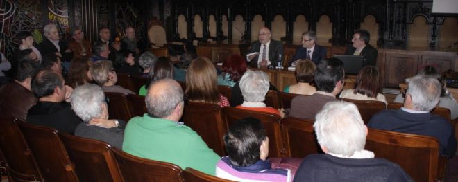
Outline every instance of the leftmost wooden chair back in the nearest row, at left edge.
{"label": "leftmost wooden chair back in the nearest row, at left edge", "polygon": [[35,158],[17,127],[17,119],[0,116],[0,150],[8,173],[15,181],[43,181]]}

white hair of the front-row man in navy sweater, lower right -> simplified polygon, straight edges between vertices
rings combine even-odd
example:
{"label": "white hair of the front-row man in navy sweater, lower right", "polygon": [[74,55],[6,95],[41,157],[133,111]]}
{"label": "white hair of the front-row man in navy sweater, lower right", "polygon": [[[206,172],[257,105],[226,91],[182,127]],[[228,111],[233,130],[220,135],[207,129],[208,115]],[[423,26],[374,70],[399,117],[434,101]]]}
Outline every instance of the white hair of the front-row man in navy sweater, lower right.
{"label": "white hair of the front-row man in navy sweater, lower right", "polygon": [[316,114],[313,125],[321,146],[332,154],[352,156],[366,144],[366,128],[355,104],[328,102]]}

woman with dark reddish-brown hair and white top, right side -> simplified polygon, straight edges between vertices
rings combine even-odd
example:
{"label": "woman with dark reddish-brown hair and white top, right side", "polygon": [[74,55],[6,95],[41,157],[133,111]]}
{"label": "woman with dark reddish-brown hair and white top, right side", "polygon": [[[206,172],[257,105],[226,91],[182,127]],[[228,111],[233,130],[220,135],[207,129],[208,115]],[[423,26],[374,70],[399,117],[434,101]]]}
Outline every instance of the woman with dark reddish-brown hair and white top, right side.
{"label": "woman with dark reddish-brown hair and white top, right side", "polygon": [[341,98],[356,100],[376,100],[387,104],[382,92],[380,75],[375,66],[364,66],[356,76],[355,89],[346,89],[340,93]]}

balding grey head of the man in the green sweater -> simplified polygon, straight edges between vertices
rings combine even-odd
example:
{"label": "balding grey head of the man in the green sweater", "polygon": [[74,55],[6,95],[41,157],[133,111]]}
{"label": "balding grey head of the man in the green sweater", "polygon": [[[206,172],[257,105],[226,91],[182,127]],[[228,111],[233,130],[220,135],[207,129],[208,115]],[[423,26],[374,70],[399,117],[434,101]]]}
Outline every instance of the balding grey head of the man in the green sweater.
{"label": "balding grey head of the man in the green sweater", "polygon": [[173,79],[158,80],[149,87],[145,101],[150,116],[167,118],[183,103],[183,90]]}

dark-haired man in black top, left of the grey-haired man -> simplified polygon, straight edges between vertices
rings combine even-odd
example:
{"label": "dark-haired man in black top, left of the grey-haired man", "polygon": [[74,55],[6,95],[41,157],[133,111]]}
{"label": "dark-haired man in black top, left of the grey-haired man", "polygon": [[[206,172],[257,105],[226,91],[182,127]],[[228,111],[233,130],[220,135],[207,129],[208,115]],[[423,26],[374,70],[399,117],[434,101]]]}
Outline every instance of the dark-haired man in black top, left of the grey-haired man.
{"label": "dark-haired man in black top, left of the grey-haired man", "polygon": [[33,78],[32,91],[38,98],[37,104],[28,109],[26,122],[53,127],[58,131],[73,134],[82,120],[76,116],[68,102],[65,80],[59,73],[43,70]]}

